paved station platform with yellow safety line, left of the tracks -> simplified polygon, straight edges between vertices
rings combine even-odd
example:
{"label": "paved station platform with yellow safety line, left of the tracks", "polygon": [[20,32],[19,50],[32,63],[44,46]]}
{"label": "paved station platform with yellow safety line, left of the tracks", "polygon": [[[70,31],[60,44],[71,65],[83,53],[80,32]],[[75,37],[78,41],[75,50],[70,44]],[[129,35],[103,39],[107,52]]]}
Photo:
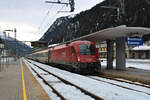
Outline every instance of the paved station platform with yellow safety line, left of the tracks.
{"label": "paved station platform with yellow safety line, left of the tracks", "polygon": [[50,100],[22,60],[0,72],[0,100]]}

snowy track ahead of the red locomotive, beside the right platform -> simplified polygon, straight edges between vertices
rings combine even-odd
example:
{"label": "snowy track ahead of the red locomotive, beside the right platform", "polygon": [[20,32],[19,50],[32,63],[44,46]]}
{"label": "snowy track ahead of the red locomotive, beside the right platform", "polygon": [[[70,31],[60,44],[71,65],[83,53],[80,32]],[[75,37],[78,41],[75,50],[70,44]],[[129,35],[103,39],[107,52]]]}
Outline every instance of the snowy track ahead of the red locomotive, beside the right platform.
{"label": "snowy track ahead of the red locomotive, beside the right platform", "polygon": [[[87,76],[88,78],[91,78],[91,79],[94,79],[94,80],[97,80],[97,81],[100,81],[100,82],[104,82],[104,83],[108,83],[108,84],[111,84],[111,85],[114,85],[114,86],[117,86],[117,87],[121,87],[121,88],[125,88],[125,89],[128,89],[128,90],[132,90],[132,91],[136,91],[136,92],[140,92],[140,93],[145,93],[147,95],[150,95],[150,91],[149,93],[146,92],[146,91],[142,91],[142,90],[137,90],[135,88],[132,88],[132,87],[128,87],[126,85],[121,85],[121,84],[117,84],[117,80],[110,80],[110,81],[105,81],[106,78],[101,78],[101,77],[96,77],[96,76]],[[108,79],[107,79],[108,80]],[[116,81],[116,82],[111,82],[111,81]],[[149,86],[145,86],[145,85],[141,85],[141,84],[136,84],[136,83],[132,83],[132,82],[127,82],[127,81],[123,81],[123,80],[120,80],[118,82],[125,82],[125,83],[128,83],[128,84],[133,84],[133,85],[136,85],[136,86],[140,86],[140,87],[144,87],[144,88],[149,88],[150,90],[150,87]]]}

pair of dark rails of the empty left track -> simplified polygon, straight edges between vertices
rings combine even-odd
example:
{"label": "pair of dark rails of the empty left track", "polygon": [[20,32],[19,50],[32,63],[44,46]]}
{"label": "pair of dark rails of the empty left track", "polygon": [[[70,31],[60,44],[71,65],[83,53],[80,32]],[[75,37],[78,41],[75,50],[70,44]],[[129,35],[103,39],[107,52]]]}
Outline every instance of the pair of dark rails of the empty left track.
{"label": "pair of dark rails of the empty left track", "polygon": [[[27,61],[28,61],[28,60],[27,60]],[[75,85],[75,84],[73,84],[73,83],[71,83],[71,82],[69,82],[69,81],[67,81],[67,80],[65,80],[65,79],[63,79],[63,78],[61,78],[61,77],[59,77],[59,76],[53,74],[53,73],[51,73],[50,71],[47,71],[47,70],[43,69],[43,68],[40,67],[39,65],[36,65],[36,64],[34,64],[34,63],[30,62],[30,61],[28,61],[28,62],[31,63],[31,64],[33,64],[34,66],[36,66],[36,67],[39,68],[40,70],[42,70],[42,71],[48,73],[49,75],[52,75],[52,76],[58,78],[58,79],[59,79],[61,82],[63,82],[64,84],[70,85],[70,86],[73,86],[73,87],[77,88],[78,90],[82,91],[85,95],[90,96],[90,97],[92,98],[92,100],[104,100],[103,98],[101,98],[101,97],[99,97],[99,96],[97,96],[97,95],[95,95],[95,94],[93,94],[93,93],[91,93],[91,92],[89,92],[89,91],[87,91],[87,90],[81,88],[80,86],[77,86],[77,85]],[[48,82],[45,78],[43,78],[43,76],[42,76],[41,74],[39,74],[38,71],[35,70],[35,68],[33,68],[33,67],[31,67],[31,66],[29,66],[29,67],[37,74],[37,76],[38,76],[39,78],[41,78],[41,79],[44,81],[45,84],[47,84],[50,88],[52,88],[53,91],[54,91],[62,100],[68,100],[68,99],[67,99],[66,97],[64,97],[57,89],[55,89],[55,87],[53,87],[53,85],[51,85],[50,82]]]}

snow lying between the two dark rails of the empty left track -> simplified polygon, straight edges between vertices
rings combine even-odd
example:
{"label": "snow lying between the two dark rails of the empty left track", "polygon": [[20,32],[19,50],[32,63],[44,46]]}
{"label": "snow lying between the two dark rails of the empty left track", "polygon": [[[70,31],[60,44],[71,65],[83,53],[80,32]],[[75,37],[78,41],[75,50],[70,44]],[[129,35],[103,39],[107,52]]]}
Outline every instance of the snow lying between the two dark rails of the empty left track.
{"label": "snow lying between the two dark rails of the empty left track", "polygon": [[49,82],[57,91],[59,91],[67,100],[94,100],[88,95],[85,95],[82,93],[79,89],[67,85],[58,78],[48,74],[47,72],[44,72],[43,70],[37,68],[33,64],[29,63],[34,70],[36,70],[46,81]]}

